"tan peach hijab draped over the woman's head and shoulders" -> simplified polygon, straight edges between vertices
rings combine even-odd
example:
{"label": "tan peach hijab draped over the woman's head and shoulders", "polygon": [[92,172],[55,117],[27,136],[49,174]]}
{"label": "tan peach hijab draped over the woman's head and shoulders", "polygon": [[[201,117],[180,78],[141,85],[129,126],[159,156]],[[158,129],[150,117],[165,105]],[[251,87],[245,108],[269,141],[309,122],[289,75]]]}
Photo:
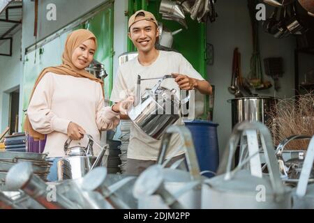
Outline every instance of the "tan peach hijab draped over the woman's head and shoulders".
{"label": "tan peach hijab draped over the woman's head and shoulders", "polygon": [[[72,33],[68,34],[68,37],[66,38],[66,45],[64,46],[62,54],[62,64],[60,66],[45,68],[42,72],[40,72],[40,75],[36,79],[35,85],[33,86],[33,91],[31,91],[31,98],[33,96],[33,92],[36,89],[36,86],[40,82],[40,79],[42,79],[47,72],[54,72],[58,75],[71,75],[73,77],[85,77],[95,82],[99,82],[101,86],[103,86],[103,81],[94,77],[94,75],[91,75],[84,69],[76,68],[71,61],[73,51],[81,43],[88,39],[93,39],[97,47],[96,36],[94,36],[94,34],[91,33],[91,31],[88,31],[87,29],[77,29]],[[29,101],[31,101],[31,98],[29,99]],[[34,141],[45,139],[45,134],[41,134],[40,132],[36,132],[35,130],[33,130],[31,123],[29,122],[28,116],[26,116],[25,118],[24,130],[25,132],[27,132],[27,134],[33,137]]]}

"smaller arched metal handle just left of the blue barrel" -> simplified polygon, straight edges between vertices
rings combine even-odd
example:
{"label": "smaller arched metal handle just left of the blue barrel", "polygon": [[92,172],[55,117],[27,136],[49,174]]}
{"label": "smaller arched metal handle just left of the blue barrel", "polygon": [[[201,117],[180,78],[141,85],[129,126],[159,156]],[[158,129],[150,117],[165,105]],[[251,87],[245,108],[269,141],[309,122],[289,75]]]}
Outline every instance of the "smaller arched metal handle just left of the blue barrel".
{"label": "smaller arched metal handle just left of the blue barrel", "polygon": [[169,162],[171,158],[174,157],[174,155],[176,155],[177,152],[181,149],[180,147],[178,147],[177,150],[173,151],[173,153],[170,154],[169,159],[163,162],[165,160],[167,148],[169,147],[170,139],[172,137],[172,134],[174,133],[179,133],[181,141],[184,142],[183,148],[184,151],[186,151],[186,162],[188,164],[188,170],[190,172],[191,180],[200,180],[200,167],[197,162],[197,156],[193,144],[192,135],[190,134],[190,130],[188,130],[186,126],[171,125],[169,128],[167,128],[165,134],[163,135],[163,138],[161,139],[161,146],[157,158],[157,164],[163,164],[163,166],[165,166],[167,162]]}

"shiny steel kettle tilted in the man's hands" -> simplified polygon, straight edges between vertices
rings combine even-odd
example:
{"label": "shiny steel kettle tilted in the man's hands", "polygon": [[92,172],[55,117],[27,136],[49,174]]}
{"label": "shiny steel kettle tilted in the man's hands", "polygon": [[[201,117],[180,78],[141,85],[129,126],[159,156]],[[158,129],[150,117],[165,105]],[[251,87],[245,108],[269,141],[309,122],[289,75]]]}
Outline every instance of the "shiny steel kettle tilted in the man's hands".
{"label": "shiny steel kettle tilted in the man's hands", "polygon": [[165,89],[160,84],[172,75],[165,75],[158,79],[157,84],[141,95],[140,75],[137,76],[137,87],[135,92],[135,102],[128,110],[128,116],[133,123],[143,132],[154,139],[160,139],[166,128],[176,122],[180,117],[181,105],[188,102],[190,94],[183,100],[177,98],[176,90]]}

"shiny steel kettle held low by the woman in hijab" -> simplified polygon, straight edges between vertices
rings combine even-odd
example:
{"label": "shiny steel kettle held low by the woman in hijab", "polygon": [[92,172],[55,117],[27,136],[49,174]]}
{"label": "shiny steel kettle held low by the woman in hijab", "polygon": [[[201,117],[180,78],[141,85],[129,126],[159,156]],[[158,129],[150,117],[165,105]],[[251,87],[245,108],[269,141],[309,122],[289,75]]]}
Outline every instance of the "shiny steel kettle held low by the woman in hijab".
{"label": "shiny steel kettle held low by the woman in hijab", "polygon": [[89,134],[87,137],[89,138],[89,142],[86,147],[73,146],[69,148],[68,146],[72,140],[66,140],[64,143],[66,156],[57,161],[58,180],[82,178],[91,169],[101,164],[107,146],[100,146],[101,151],[96,157],[93,153],[93,144],[95,141]]}

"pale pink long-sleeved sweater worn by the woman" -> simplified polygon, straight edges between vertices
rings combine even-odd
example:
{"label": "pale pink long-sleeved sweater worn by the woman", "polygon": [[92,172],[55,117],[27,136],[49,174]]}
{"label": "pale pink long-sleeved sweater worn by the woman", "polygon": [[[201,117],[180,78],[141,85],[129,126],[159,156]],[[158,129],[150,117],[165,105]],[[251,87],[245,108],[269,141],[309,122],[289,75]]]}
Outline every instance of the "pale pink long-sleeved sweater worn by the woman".
{"label": "pale pink long-sleeved sweater worn by the woman", "polygon": [[[68,139],[70,121],[82,126],[100,141],[99,130],[110,130],[119,124],[119,114],[104,106],[101,85],[87,78],[57,75],[53,72],[40,80],[27,109],[34,130],[47,134],[44,153],[48,157],[63,157],[63,145]],[[87,146],[84,136],[70,146]],[[94,155],[100,148],[94,144]]]}

